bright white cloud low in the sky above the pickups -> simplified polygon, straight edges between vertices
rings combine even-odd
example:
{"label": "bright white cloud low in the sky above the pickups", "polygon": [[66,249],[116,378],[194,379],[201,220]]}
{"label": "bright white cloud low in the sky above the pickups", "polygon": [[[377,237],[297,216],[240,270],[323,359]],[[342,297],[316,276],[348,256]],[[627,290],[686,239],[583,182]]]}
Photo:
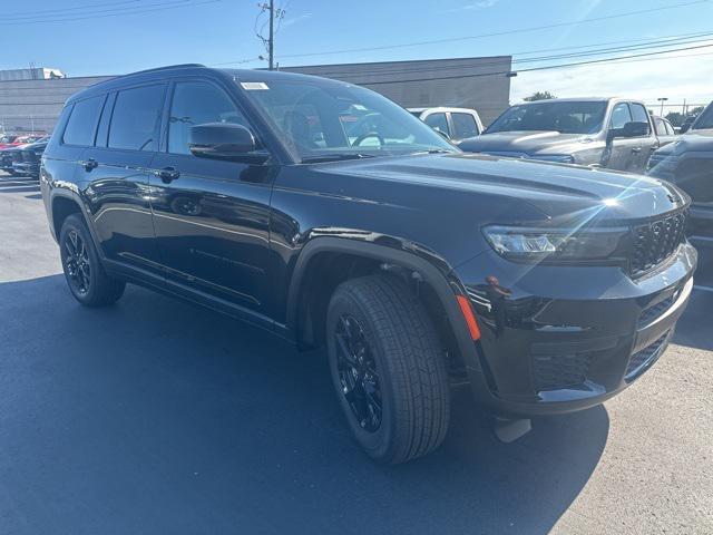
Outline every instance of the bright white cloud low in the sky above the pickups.
{"label": "bright white cloud low in the sky above the pickups", "polygon": [[[627,62],[520,72],[512,78],[510,97],[517,103],[535,91],[547,90],[558,97],[623,96],[647,104],[667,97],[670,104],[683,103],[684,99],[703,104],[713,100],[711,59],[713,49],[704,48],[655,58],[634,58]],[[517,64],[512,68],[517,70]],[[668,108],[671,110],[678,109]]]}

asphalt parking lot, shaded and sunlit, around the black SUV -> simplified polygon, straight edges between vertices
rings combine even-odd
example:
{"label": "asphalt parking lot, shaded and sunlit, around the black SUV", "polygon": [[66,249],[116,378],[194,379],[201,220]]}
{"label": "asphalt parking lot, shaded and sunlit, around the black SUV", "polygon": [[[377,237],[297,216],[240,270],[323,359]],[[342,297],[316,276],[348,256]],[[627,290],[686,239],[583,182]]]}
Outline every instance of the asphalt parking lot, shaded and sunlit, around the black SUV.
{"label": "asphalt parking lot, shaded and sunlit, around the black SUV", "polygon": [[36,182],[0,175],[0,533],[713,533],[713,254],[675,343],[604,407],[501,445],[458,392],[374,466],[323,354],[129,286],[66,289]]}

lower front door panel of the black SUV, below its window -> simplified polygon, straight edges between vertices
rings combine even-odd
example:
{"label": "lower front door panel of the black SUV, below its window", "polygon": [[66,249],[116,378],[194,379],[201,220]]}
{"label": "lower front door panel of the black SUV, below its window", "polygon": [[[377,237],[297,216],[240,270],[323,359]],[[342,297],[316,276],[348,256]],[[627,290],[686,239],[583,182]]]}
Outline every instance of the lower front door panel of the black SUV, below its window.
{"label": "lower front door panel of the black SUV, below its window", "polygon": [[159,154],[149,179],[154,225],[167,279],[261,310],[268,251],[268,167]]}

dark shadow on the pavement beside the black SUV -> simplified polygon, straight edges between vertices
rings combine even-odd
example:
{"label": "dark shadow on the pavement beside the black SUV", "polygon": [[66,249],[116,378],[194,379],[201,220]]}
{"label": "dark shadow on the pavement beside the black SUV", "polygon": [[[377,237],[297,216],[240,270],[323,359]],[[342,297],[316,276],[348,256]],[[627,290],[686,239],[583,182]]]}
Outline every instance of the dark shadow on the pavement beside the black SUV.
{"label": "dark shadow on the pavement beside the black SUV", "polygon": [[498,442],[467,390],[434,454],[372,464],[323,353],[129,286],[84,309],[53,275],[0,284],[0,522],[9,533],[548,533],[606,410]]}

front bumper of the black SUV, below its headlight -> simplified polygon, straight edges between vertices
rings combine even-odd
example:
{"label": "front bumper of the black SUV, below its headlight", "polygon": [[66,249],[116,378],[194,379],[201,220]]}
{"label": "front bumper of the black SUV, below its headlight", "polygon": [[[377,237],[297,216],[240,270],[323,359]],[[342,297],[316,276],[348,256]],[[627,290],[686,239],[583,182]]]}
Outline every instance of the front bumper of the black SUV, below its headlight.
{"label": "front bumper of the black SUV, below its headlight", "polygon": [[693,288],[687,243],[644,278],[614,266],[522,265],[486,252],[453,273],[480,323],[473,393],[505,417],[582,410],[665,351]]}

